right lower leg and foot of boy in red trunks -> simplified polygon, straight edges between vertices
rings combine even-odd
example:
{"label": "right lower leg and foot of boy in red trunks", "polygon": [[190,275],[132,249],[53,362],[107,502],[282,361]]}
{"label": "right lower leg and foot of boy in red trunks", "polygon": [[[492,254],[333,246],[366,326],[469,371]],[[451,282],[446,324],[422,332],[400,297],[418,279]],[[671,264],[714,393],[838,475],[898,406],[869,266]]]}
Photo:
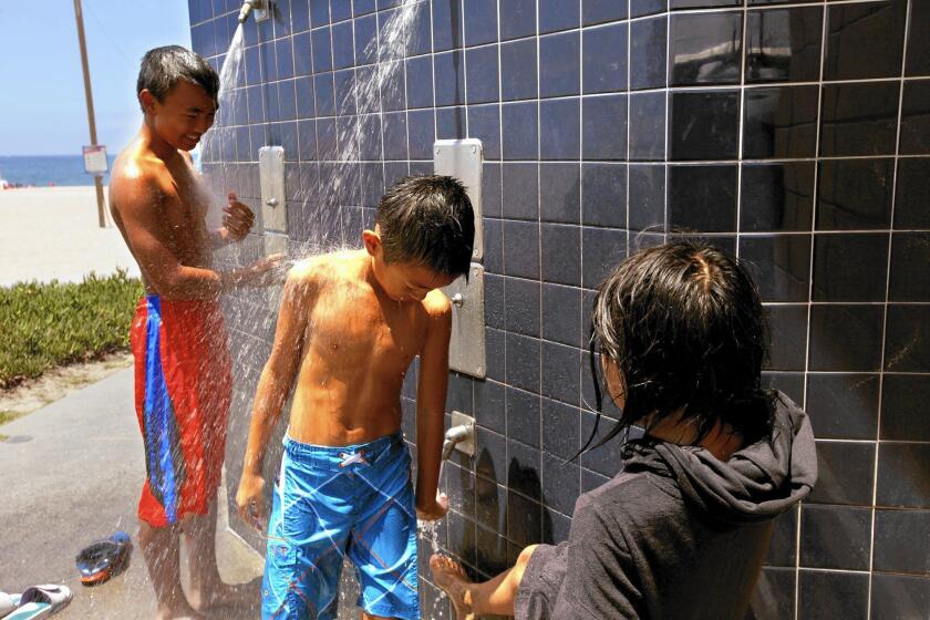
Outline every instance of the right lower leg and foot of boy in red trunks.
{"label": "right lower leg and foot of boy in red trunks", "polygon": [[188,514],[182,520],[187,538],[190,566],[188,600],[194,609],[204,611],[220,604],[258,604],[259,591],[248,583],[232,586],[219,577],[216,560],[216,498],[206,515]]}

